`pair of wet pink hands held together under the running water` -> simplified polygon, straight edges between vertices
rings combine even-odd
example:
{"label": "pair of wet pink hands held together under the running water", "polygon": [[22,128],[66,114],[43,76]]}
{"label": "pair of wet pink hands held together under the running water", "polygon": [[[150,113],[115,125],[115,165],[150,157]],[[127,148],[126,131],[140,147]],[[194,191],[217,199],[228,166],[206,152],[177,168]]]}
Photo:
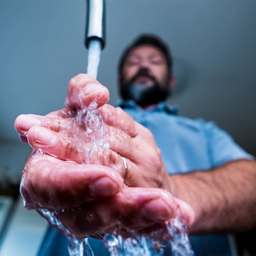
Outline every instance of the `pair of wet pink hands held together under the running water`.
{"label": "pair of wet pink hands held together under the running water", "polygon": [[[91,164],[85,164],[86,149],[92,145],[75,113],[95,99],[110,148],[95,151]],[[170,193],[171,176],[151,132],[121,108],[106,104],[108,100],[106,87],[80,74],[68,85],[67,108],[16,118],[16,131],[44,153],[33,154],[25,164],[21,181],[25,207],[56,210],[58,219],[78,238],[116,226],[144,228],[177,215],[192,225],[194,211]],[[128,167],[125,180],[121,156]]]}

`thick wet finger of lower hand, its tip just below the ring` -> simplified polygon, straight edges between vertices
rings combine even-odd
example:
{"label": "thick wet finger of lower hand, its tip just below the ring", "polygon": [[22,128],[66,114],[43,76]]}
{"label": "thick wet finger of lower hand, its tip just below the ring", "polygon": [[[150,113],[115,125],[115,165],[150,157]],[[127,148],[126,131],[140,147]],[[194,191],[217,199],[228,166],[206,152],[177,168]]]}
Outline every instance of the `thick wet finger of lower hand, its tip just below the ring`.
{"label": "thick wet finger of lower hand, its tip just below the ring", "polygon": [[28,209],[63,209],[115,195],[123,187],[120,175],[106,166],[34,155],[24,167],[20,192]]}

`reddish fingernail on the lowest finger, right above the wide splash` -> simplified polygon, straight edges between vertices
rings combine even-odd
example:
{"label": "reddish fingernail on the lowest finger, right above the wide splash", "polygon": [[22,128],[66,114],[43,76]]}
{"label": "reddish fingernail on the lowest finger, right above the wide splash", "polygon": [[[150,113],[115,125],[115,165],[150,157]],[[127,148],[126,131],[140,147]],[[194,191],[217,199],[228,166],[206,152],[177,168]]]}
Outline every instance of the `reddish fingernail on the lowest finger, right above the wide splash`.
{"label": "reddish fingernail on the lowest finger, right above the wide splash", "polygon": [[149,220],[168,220],[172,217],[172,210],[161,198],[144,204],[141,213]]}

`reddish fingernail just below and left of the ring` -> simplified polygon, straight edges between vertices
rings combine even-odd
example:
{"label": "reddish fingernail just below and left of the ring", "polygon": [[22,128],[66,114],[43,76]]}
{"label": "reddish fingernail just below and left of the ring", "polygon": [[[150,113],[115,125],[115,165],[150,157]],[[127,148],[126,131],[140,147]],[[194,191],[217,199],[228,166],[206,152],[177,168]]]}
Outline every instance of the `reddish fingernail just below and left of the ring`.
{"label": "reddish fingernail just below and left of the ring", "polygon": [[113,196],[119,192],[118,184],[108,177],[101,177],[90,184],[93,193],[99,196]]}

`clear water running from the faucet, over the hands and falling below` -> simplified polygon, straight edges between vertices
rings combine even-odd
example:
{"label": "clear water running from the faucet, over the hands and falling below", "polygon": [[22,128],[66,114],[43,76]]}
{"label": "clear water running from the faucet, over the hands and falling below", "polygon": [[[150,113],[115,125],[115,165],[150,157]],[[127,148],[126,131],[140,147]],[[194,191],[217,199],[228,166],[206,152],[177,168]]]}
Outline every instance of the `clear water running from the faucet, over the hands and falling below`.
{"label": "clear water running from the faucet, over the hands and falling below", "polygon": [[[98,65],[100,62],[101,44],[98,40],[91,40],[88,48],[87,73],[97,78]],[[87,151],[86,162],[90,164],[90,155],[97,150],[109,148],[108,142],[104,139],[103,121],[97,110],[97,104],[92,102],[88,107],[77,111],[77,123],[85,123],[85,136],[90,141],[92,148]],[[76,134],[74,134],[76,138]],[[40,152],[39,152],[40,153]],[[62,211],[66,211],[63,209]],[[71,209],[72,210],[72,209]],[[93,256],[88,239],[76,239],[57,219],[58,212],[48,209],[38,209],[52,226],[60,229],[68,237],[68,251],[70,256],[83,256],[84,249],[88,256]],[[113,230],[104,236],[104,244],[111,256],[153,256],[163,255],[164,249],[171,245],[171,253],[174,256],[193,255],[187,235],[187,225],[180,218],[169,220],[163,224],[155,225],[140,231],[130,229]]]}

